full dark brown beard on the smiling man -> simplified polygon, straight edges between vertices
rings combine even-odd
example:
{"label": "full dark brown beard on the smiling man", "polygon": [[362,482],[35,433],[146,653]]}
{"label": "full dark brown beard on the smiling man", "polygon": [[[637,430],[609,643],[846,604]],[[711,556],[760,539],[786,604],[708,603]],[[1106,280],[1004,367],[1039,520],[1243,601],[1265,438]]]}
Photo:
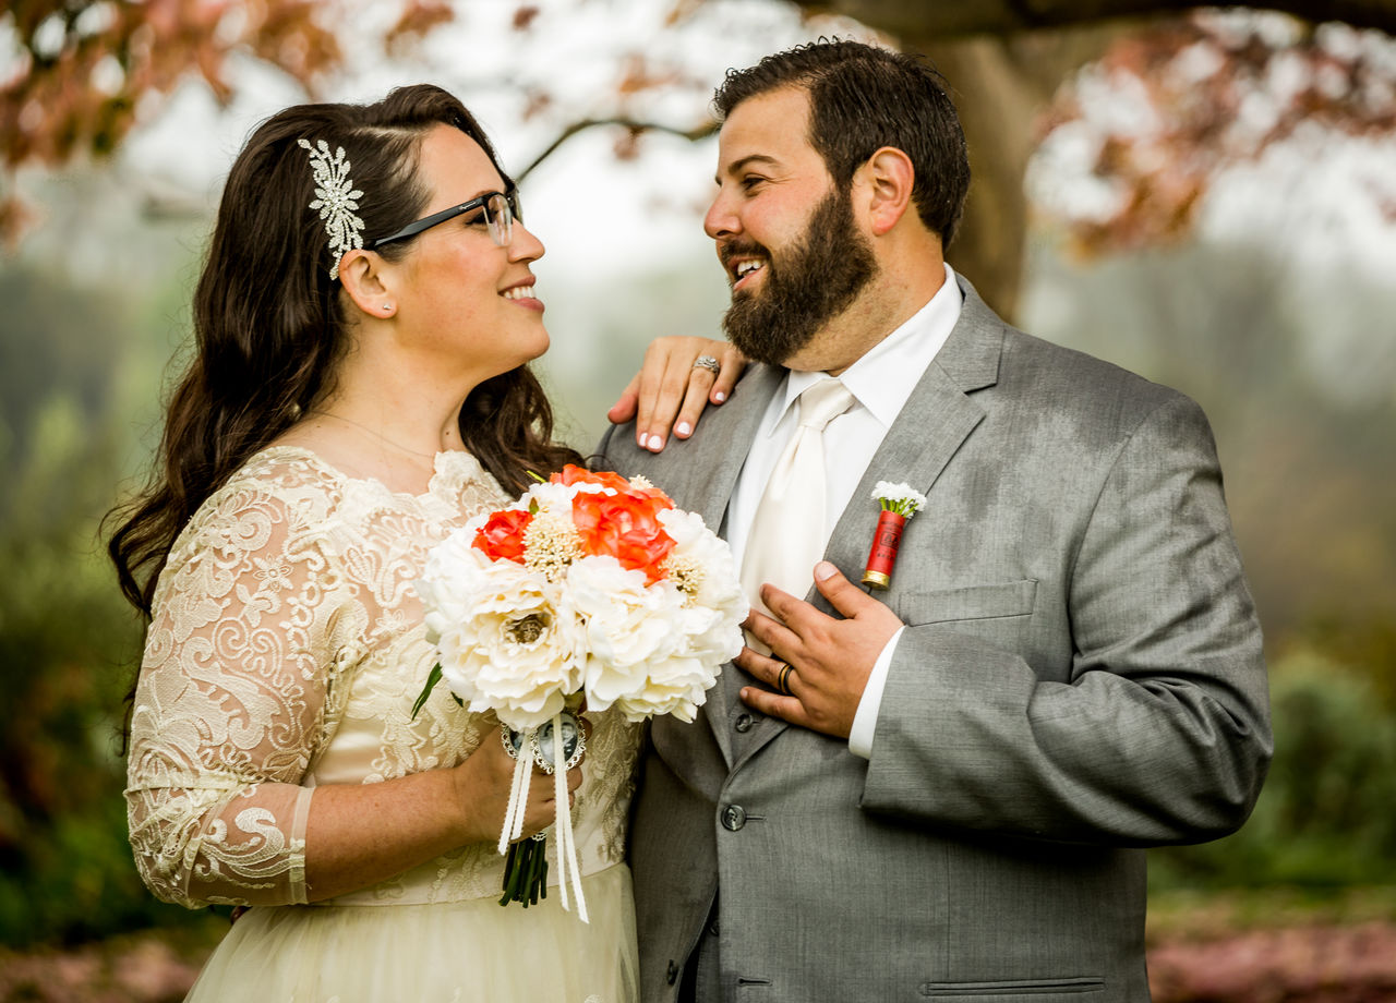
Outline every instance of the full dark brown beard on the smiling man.
{"label": "full dark brown beard on the smiling man", "polygon": [[722,248],[765,257],[765,276],[752,292],[738,289],[722,318],[727,339],[747,359],[782,365],[819,329],[847,310],[877,273],[872,248],[853,223],[850,191],[831,191],[810,215],[804,234],[779,261],[755,241]]}

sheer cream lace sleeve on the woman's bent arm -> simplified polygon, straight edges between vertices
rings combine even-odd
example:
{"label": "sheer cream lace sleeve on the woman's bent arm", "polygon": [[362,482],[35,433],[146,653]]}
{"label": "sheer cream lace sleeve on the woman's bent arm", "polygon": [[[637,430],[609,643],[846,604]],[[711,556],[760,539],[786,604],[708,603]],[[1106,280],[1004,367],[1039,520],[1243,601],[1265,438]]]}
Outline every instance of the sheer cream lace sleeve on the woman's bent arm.
{"label": "sheer cream lace sleeve on the woman's bent arm", "polygon": [[137,868],[166,901],[306,901],[300,781],[364,619],[307,494],[225,488],[161,575],[126,797]]}

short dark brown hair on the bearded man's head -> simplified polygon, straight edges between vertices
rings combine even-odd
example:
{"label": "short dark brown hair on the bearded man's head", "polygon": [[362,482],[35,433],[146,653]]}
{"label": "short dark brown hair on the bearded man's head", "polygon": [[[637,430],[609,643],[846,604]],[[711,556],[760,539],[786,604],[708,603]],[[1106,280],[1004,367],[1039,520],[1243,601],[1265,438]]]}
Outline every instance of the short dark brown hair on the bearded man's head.
{"label": "short dark brown hair on the bearded man's head", "polygon": [[786,86],[810,95],[810,145],[840,188],[882,146],[906,153],[916,211],[949,247],[969,193],[969,156],[940,73],[919,56],[819,39],[729,70],[713,109],[725,121],[741,102]]}

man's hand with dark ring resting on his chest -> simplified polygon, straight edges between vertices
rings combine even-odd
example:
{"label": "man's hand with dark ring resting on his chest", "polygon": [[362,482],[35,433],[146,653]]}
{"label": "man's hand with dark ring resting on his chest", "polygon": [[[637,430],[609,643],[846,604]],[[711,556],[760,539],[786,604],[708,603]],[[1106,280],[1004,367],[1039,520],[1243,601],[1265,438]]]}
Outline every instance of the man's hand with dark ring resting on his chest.
{"label": "man's hand with dark ring resting on his chest", "polygon": [[[743,626],[771,654],[744,647],[736,661],[769,689],[743,686],[741,699],[771,717],[847,738],[872,665],[902,621],[826,561],[815,565],[815,586],[843,619],[772,585],[761,587],[773,617],[752,610]],[[778,692],[782,684],[789,692]]]}

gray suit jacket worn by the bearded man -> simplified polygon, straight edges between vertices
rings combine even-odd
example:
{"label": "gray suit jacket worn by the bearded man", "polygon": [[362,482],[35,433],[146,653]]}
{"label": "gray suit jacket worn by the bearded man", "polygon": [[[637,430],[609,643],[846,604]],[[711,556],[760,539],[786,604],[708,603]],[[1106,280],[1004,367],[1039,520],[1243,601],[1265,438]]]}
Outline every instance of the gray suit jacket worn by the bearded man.
{"label": "gray suit jacket worn by the bearded man", "polygon": [[[829,541],[859,580],[872,485],[927,495],[871,762],[765,718],[726,667],[655,721],[631,831],[646,1003],[718,896],[727,1000],[1146,1000],[1141,847],[1237,829],[1272,741],[1261,631],[1206,418],[965,306]],[[718,526],[782,370],[698,434],[603,463]],[[817,593],[811,601],[832,612]]]}

